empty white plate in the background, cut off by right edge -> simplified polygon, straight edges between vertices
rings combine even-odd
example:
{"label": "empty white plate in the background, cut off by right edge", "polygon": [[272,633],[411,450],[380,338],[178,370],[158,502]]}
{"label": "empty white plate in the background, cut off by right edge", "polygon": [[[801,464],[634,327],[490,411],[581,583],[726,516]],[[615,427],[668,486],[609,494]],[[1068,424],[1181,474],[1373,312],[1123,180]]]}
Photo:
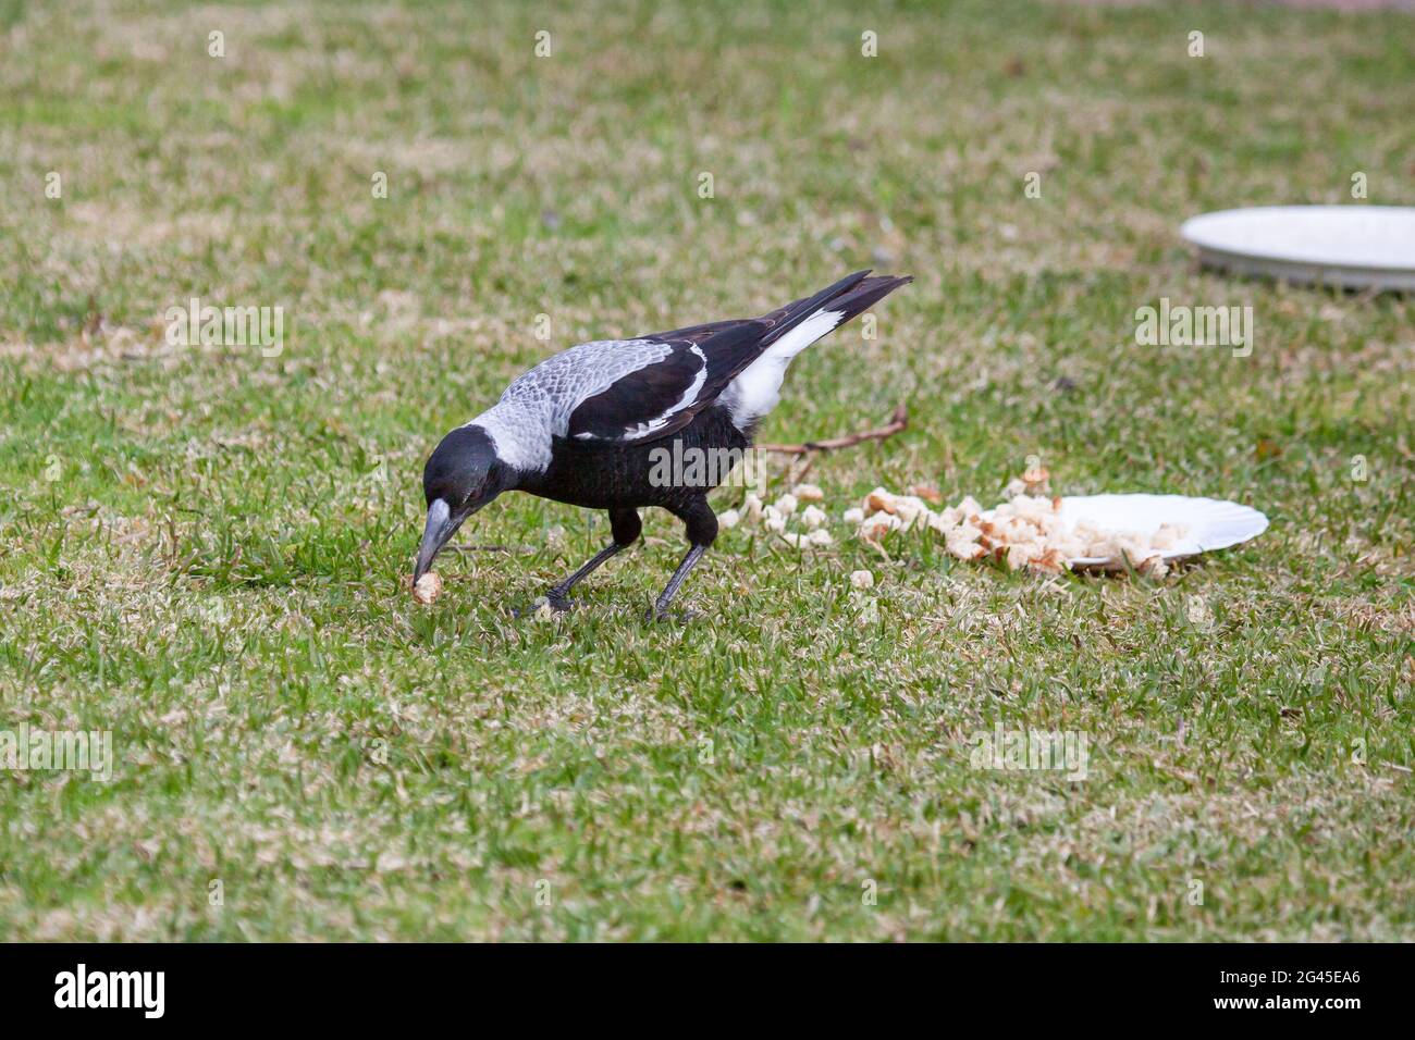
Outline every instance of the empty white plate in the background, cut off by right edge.
{"label": "empty white plate in the background, cut off by right edge", "polygon": [[1415,207],[1274,205],[1184,221],[1200,262],[1346,289],[1415,290]]}

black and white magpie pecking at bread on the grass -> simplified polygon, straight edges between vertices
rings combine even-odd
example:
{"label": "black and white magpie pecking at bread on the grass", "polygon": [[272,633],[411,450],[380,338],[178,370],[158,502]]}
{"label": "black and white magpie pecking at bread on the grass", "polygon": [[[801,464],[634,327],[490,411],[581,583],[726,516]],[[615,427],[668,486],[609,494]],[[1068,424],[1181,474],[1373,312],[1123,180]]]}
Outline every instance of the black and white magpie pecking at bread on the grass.
{"label": "black and white magpie pecking at bread on the grass", "polygon": [[546,593],[553,608],[565,610],[577,582],[638,539],[638,509],[657,505],[683,521],[689,542],[649,610],[651,618],[662,617],[717,536],[708,504],[716,483],[655,478],[662,453],[654,449],[679,439],[685,454],[746,451],[780,400],[791,359],[911,280],[856,272],[760,318],[583,342],[542,361],[429,457],[427,525],[413,582],[471,514],[502,491],[528,491],[610,515],[613,541]]}

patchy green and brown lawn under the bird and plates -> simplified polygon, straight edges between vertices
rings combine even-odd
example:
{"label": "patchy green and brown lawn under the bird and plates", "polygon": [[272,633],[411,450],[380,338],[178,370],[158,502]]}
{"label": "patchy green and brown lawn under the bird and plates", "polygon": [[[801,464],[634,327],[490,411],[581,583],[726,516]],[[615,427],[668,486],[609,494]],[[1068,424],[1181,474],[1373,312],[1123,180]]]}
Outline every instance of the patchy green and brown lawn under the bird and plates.
{"label": "patchy green and brown lawn under the bird and plates", "polygon": [[[1360,204],[1354,171],[1415,204],[1409,16],[64,7],[0,11],[0,729],[112,730],[119,764],[0,774],[0,935],[1415,938],[1415,303],[1227,280],[1176,233]],[[518,621],[607,524],[509,495],[461,541],[515,552],[402,591],[426,453],[522,368],[876,250],[916,283],[763,430],[910,403],[815,461],[836,518],[990,502],[1037,454],[1269,532],[1149,582],[739,528],[699,618],[648,627],[655,512]],[[284,352],[168,347],[191,296],[283,306]],[[1252,355],[1135,345],[1162,296],[1251,304]],[[1088,778],[972,768],[999,722],[1085,734]]]}

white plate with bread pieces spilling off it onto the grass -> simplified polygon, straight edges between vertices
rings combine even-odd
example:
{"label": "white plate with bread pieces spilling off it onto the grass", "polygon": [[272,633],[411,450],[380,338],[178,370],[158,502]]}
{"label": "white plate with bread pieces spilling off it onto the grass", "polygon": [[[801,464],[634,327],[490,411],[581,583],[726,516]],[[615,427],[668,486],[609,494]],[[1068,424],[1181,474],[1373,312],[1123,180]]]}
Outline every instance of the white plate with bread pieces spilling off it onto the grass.
{"label": "white plate with bread pieces spilling off it onto the grass", "polygon": [[[1187,538],[1169,549],[1156,550],[1165,560],[1227,549],[1268,529],[1268,518],[1251,507],[1186,495],[1068,497],[1061,499],[1058,515],[1073,526],[1090,521],[1094,526],[1115,533],[1149,536],[1159,531],[1160,524],[1179,524],[1187,528]],[[1139,560],[1131,562],[1139,563]],[[1124,569],[1125,560],[1085,556],[1071,560],[1071,566]]]}

